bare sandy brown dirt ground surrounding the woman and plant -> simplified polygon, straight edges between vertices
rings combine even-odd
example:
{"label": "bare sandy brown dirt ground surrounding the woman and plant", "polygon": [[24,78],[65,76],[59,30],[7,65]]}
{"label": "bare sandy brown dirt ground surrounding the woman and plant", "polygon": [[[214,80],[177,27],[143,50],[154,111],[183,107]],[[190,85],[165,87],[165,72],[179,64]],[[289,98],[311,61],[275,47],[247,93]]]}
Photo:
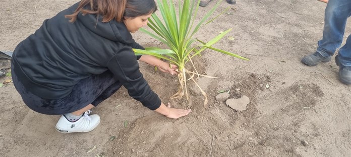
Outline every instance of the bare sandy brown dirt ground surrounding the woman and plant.
{"label": "bare sandy brown dirt ground surrounding the woman and plant", "polygon": [[[200,8],[200,15],[214,2]],[[13,51],[43,20],[74,3],[0,1],[0,50]],[[0,156],[351,156],[351,86],[338,81],[334,58],[316,67],[300,61],[322,38],[326,4],[224,1],[215,14],[227,7],[231,14],[204,27],[197,38],[206,41],[233,28],[227,37],[235,39],[223,38],[215,47],[250,61],[209,50],[195,59],[200,72],[220,77],[198,79],[208,94],[207,106],[194,83],[189,84],[191,100],[168,99],[177,90],[177,78],[140,63],[162,101],[191,108],[188,116],[168,119],[143,107],[123,88],[92,110],[101,116],[95,130],[63,134],[54,128],[59,115],[30,110],[8,83],[0,88]],[[348,23],[345,35],[350,33]],[[162,46],[141,32],[134,37],[144,46]],[[217,101],[220,90],[230,90],[230,98],[248,96],[247,110],[237,112]]]}

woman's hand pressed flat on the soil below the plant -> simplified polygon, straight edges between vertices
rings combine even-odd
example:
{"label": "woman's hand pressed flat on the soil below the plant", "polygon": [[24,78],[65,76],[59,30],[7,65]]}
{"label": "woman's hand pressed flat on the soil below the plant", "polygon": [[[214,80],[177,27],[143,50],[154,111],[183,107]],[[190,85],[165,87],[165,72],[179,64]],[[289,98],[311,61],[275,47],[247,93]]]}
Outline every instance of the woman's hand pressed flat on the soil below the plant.
{"label": "woman's hand pressed flat on the soil below the plant", "polygon": [[155,111],[165,115],[168,118],[178,119],[180,117],[188,115],[191,112],[191,109],[171,108],[170,103],[168,103],[167,106],[162,103],[161,106],[158,107]]}

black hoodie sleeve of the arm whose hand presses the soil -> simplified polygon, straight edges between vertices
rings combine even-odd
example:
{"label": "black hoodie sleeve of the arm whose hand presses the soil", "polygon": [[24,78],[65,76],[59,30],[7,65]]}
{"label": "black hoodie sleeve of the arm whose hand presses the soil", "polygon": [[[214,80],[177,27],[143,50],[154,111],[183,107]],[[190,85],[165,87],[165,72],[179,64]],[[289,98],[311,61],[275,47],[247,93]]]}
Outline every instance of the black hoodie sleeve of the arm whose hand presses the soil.
{"label": "black hoodie sleeve of the arm whose hand presses the soil", "polygon": [[145,107],[155,110],[161,105],[158,95],[151,90],[139,71],[138,61],[130,47],[122,47],[119,52],[115,53],[108,61],[107,67],[114,77],[127,88],[129,95],[140,101]]}

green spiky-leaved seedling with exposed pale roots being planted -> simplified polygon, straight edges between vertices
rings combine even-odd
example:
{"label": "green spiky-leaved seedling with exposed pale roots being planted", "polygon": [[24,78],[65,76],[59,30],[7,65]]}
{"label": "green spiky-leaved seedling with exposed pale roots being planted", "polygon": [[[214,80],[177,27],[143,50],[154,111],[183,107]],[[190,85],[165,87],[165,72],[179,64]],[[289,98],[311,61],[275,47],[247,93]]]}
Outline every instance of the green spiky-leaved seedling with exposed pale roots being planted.
{"label": "green spiky-leaved seedling with exposed pale roots being planted", "polygon": [[[197,73],[195,67],[195,72],[187,70],[185,65],[190,61],[192,62],[192,58],[200,55],[205,49],[211,49],[226,55],[230,55],[233,57],[237,57],[243,60],[248,60],[247,58],[241,57],[239,55],[221,50],[212,47],[213,44],[218,42],[221,38],[223,38],[231,29],[220,33],[218,36],[213,38],[208,42],[201,41],[199,39],[194,39],[194,34],[197,33],[203,26],[211,23],[215,18],[207,21],[207,19],[213,14],[215,9],[221,3],[218,2],[215,7],[213,7],[210,12],[208,12],[200,22],[195,24],[195,18],[198,13],[200,1],[197,3],[194,0],[184,0],[183,2],[179,1],[178,13],[175,10],[175,5],[172,0],[157,0],[157,5],[159,11],[161,13],[163,22],[156,15],[153,14],[149,19],[148,26],[154,31],[151,33],[145,29],[141,29],[142,32],[150,35],[151,37],[159,40],[163,44],[167,45],[169,49],[159,49],[159,48],[147,48],[146,50],[134,49],[136,55],[152,55],[164,60],[169,61],[174,65],[177,65],[179,68],[179,90],[175,93],[171,98],[180,98],[186,94],[187,99],[189,99],[187,92],[187,81],[193,80],[195,84],[201,90],[201,93],[205,96],[204,104],[207,104],[207,96],[206,93],[200,88],[200,86],[194,80],[194,76],[204,76]],[[224,11],[225,12],[225,11]],[[224,13],[222,12],[222,13]],[[221,13],[221,14],[222,14]],[[205,23],[206,22],[206,23]],[[195,42],[199,44],[195,44]],[[189,76],[189,77],[187,77]],[[209,76],[206,76],[209,77]]]}

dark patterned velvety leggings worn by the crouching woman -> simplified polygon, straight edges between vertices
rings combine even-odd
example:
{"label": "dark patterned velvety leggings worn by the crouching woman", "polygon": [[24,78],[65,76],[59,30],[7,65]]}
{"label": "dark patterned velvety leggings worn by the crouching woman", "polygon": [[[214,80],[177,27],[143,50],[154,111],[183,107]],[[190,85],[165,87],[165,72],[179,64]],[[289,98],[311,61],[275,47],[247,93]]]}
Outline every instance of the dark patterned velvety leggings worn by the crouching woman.
{"label": "dark patterned velvety leggings worn by the crouching woman", "polygon": [[[15,71],[15,69],[12,68],[12,71]],[[64,98],[45,99],[29,92],[14,72],[12,72],[12,80],[24,103],[30,109],[49,115],[72,113],[90,103],[97,106],[122,86],[118,80],[113,78],[113,74],[110,71],[106,71],[80,80],[73,87],[72,92]]]}

